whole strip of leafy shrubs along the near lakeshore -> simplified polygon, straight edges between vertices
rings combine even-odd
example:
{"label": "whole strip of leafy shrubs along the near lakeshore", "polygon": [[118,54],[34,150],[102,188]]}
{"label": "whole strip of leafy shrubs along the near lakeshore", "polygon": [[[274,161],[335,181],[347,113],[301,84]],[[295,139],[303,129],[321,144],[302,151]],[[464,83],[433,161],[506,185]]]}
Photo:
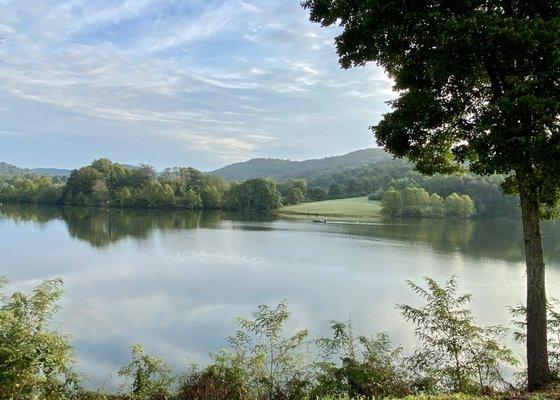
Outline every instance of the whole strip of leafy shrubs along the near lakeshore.
{"label": "whole strip of leafy shrubs along the near lakeshore", "polygon": [[[2,286],[7,282],[2,281]],[[387,334],[355,334],[352,322],[331,321],[332,335],[312,339],[306,329],[287,328],[288,305],[258,306],[251,318],[237,319],[229,347],[211,362],[174,374],[165,361],[133,345],[130,362],[119,370],[112,393],[84,389],[76,372],[70,339],[52,328],[62,281],[46,281],[31,294],[1,297],[0,398],[11,400],[281,400],[281,399],[457,399],[558,398],[554,390],[524,395],[513,352],[500,343],[503,327],[476,324],[471,296],[426,278],[409,282],[421,306],[398,305],[415,326],[419,346],[395,346]],[[515,309],[516,318],[523,309]],[[560,371],[560,313],[549,309],[550,364]],[[524,322],[513,332],[524,338]],[[507,373],[507,371],[510,371]],[[434,397],[432,397],[434,396]],[[488,396],[488,397],[476,397]],[[541,397],[539,397],[541,396]]]}

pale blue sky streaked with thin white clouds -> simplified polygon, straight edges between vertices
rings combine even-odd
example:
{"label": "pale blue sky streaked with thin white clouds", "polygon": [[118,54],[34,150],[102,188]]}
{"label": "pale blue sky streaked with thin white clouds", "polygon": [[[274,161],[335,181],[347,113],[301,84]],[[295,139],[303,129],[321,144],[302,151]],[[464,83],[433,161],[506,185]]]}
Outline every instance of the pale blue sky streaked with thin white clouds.
{"label": "pale blue sky streaked with thin white clouds", "polygon": [[374,146],[395,97],[299,0],[0,0],[0,161],[212,170]]}

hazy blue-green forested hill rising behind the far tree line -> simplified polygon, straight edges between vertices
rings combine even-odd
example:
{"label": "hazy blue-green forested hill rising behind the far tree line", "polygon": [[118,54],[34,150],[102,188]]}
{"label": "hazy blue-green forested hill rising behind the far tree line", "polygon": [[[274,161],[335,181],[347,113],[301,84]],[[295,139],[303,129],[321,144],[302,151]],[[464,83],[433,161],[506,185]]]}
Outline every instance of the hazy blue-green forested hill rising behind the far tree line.
{"label": "hazy blue-green forested hill rising behind the far tree line", "polygon": [[367,164],[392,159],[381,149],[363,149],[341,156],[291,161],[278,158],[254,158],[210,172],[229,181],[268,177],[273,179],[300,178],[320,172],[358,168]]}

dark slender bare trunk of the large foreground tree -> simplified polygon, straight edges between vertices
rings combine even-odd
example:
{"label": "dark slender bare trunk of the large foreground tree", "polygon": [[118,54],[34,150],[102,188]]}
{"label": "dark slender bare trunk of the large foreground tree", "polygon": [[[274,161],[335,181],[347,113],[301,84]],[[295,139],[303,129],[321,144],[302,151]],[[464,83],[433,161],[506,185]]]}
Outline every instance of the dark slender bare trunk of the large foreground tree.
{"label": "dark slender bare trunk of the large foreground tree", "polygon": [[[521,179],[520,179],[521,178]],[[546,290],[539,204],[518,174],[527,264],[527,372],[529,390],[550,381],[548,369]]]}

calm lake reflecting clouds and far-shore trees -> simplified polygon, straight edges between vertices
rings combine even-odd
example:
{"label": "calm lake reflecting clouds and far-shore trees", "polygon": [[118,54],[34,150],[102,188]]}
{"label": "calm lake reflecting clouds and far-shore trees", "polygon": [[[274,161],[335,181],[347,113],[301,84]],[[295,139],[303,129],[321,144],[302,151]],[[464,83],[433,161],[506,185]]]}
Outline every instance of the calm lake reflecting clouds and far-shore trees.
{"label": "calm lake reflecting clouds and far-shore trees", "polygon": [[[548,293],[560,297],[560,224],[543,227]],[[314,224],[270,214],[0,207],[0,275],[8,291],[65,282],[56,324],[78,366],[107,384],[140,343],[174,368],[226,346],[235,317],[288,299],[290,329],[328,335],[351,318],[358,333],[414,343],[395,304],[406,286],[456,274],[484,324],[508,324],[524,300],[520,221]],[[519,346],[517,347],[518,349]]]}

